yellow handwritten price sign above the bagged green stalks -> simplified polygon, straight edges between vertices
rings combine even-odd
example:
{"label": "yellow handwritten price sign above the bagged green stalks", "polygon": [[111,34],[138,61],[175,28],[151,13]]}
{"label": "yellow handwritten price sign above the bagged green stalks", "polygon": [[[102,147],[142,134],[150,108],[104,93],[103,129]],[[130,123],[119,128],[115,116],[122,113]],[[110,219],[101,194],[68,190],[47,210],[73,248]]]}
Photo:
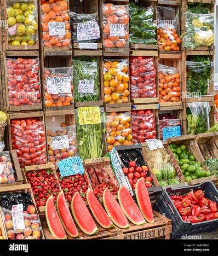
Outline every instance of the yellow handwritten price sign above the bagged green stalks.
{"label": "yellow handwritten price sign above the bagged green stalks", "polygon": [[99,107],[81,107],[77,111],[80,125],[101,123]]}

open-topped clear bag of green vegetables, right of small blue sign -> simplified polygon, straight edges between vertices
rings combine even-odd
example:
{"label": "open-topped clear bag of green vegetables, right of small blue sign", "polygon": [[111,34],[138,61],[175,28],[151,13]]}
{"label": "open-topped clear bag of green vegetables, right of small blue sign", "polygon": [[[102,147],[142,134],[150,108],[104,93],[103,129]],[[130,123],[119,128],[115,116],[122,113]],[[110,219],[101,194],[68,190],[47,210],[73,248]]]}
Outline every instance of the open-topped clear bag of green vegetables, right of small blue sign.
{"label": "open-topped clear bag of green vegetables, right of small blue sign", "polygon": [[209,112],[211,107],[209,102],[188,103],[187,109],[187,134],[202,134],[210,128]]}

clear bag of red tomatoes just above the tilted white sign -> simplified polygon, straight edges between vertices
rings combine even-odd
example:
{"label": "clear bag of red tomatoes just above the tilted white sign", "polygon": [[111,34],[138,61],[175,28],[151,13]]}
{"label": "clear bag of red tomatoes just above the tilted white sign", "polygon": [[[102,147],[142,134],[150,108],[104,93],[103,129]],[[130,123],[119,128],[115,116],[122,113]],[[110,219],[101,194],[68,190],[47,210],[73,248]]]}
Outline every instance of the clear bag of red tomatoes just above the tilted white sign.
{"label": "clear bag of red tomatoes just above the tilted white sign", "polygon": [[145,140],[156,139],[155,113],[150,110],[133,110],[132,143],[143,143]]}

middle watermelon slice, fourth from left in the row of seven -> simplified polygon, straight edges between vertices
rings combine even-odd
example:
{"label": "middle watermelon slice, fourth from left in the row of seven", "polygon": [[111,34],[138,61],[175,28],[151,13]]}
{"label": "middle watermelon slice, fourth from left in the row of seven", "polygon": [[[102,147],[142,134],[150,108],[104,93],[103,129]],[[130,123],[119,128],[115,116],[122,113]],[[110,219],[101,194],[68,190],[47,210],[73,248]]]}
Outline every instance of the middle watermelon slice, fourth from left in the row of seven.
{"label": "middle watermelon slice, fourth from left in the row of seven", "polygon": [[98,223],[104,228],[113,227],[114,225],[112,221],[110,220],[109,216],[107,215],[101,204],[98,202],[98,199],[92,193],[90,188],[88,188],[86,192],[86,198],[89,204],[89,208],[91,209],[92,214],[94,215]]}

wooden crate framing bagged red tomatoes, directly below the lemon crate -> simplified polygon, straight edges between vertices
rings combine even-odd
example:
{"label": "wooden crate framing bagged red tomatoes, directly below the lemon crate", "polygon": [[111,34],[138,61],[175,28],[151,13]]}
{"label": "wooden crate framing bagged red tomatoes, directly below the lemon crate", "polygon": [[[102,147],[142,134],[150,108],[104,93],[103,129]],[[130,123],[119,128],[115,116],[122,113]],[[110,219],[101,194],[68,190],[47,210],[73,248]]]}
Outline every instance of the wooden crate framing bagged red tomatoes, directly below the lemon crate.
{"label": "wooden crate framing bagged red tomatoes, directly below the lemon crate", "polygon": [[[1,52],[1,64],[2,66],[2,92],[3,92],[3,101],[5,105],[5,110],[7,112],[18,112],[18,111],[34,111],[34,110],[41,110],[42,109],[42,98],[40,96],[40,103],[33,104],[33,105],[21,105],[21,106],[10,106],[9,105],[9,97],[8,97],[8,88],[7,88],[7,68],[6,68],[6,58],[37,58],[38,65],[40,68],[40,59],[39,59],[39,52],[38,51],[7,51]],[[39,83],[40,83],[40,72],[39,76]],[[40,92],[40,89],[39,89]]]}

